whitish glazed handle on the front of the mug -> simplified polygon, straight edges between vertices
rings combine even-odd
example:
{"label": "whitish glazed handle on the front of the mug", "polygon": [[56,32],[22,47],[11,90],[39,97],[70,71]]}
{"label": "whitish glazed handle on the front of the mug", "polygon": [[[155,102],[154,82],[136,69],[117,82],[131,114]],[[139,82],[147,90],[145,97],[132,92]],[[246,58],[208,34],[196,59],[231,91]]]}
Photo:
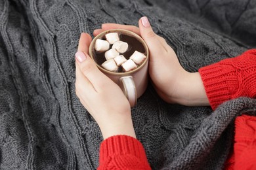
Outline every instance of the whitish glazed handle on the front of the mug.
{"label": "whitish glazed handle on the front of the mug", "polygon": [[123,93],[127,97],[131,107],[134,107],[137,104],[137,90],[133,76],[122,76],[119,80],[123,84],[121,86]]}

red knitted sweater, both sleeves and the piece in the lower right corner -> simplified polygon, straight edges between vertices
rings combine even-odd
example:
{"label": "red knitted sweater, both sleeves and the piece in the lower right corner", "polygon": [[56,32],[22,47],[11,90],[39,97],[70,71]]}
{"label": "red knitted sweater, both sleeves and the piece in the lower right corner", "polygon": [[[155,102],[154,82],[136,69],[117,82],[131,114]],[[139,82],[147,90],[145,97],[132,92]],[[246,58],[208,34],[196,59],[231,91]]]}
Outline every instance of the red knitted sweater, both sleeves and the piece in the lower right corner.
{"label": "red knitted sweater, both sleeves and the piece in the lower right corner", "polygon": [[[237,97],[256,97],[256,50],[202,67],[199,73],[212,109]],[[256,117],[236,118],[234,151],[226,169],[256,169]],[[246,159],[244,159],[246,158]],[[142,144],[116,135],[100,144],[98,169],[151,169]]]}

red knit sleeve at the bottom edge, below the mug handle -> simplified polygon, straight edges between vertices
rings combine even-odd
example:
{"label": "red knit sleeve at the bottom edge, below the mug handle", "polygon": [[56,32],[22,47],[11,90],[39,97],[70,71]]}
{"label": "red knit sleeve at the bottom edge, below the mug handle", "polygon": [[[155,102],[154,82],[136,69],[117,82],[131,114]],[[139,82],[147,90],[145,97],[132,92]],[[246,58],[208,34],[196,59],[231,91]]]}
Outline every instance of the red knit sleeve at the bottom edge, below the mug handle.
{"label": "red knit sleeve at the bottom edge, below the mug handle", "polygon": [[98,169],[151,169],[145,150],[137,139],[116,135],[100,144]]}

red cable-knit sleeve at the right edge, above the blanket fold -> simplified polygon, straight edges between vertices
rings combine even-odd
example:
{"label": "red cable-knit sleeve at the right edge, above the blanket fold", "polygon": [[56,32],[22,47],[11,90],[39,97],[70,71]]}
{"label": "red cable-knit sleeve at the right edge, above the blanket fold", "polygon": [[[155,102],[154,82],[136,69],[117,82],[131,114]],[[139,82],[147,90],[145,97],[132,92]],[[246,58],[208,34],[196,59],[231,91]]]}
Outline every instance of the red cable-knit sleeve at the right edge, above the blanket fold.
{"label": "red cable-knit sleeve at the right edge, above the blanket fold", "polygon": [[256,49],[202,67],[199,73],[212,109],[237,97],[256,97]]}

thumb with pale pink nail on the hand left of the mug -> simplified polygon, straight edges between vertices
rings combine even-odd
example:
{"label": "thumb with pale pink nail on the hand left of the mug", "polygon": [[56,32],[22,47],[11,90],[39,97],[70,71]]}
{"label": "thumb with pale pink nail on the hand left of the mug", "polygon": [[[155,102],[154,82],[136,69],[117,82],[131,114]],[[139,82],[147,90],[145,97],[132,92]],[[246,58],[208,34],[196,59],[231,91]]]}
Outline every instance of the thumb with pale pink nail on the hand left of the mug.
{"label": "thumb with pale pink nail on the hand left of the mug", "polygon": [[85,52],[78,51],[75,60],[83,76],[91,82],[96,92],[100,92],[104,83],[109,81],[108,77],[100,72],[93,59]]}

